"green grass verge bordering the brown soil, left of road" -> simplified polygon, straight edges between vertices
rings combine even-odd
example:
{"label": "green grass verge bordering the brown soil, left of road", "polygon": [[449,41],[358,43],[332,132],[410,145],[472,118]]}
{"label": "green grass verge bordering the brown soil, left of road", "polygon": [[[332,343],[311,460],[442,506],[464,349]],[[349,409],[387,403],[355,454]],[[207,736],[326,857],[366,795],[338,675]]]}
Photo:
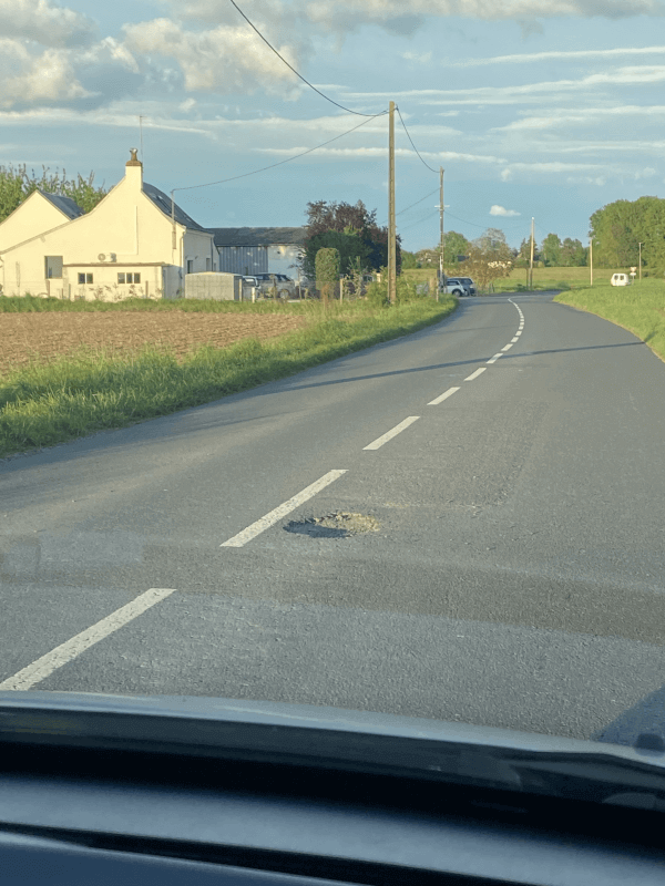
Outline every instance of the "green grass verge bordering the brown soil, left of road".
{"label": "green grass verge bordering the brown soil, left of road", "polygon": [[[0,299],[2,308],[19,299]],[[365,300],[274,305],[136,299],[124,302],[63,302],[14,310],[201,310],[258,313],[307,312],[301,330],[267,342],[245,339],[227,348],[203,346],[181,362],[170,350],[146,346],[131,357],[82,348],[45,365],[32,363],[0,378],[0,459],[53,446],[101,430],[202,405],[308,367],[436,323],[458,306],[454,298],[419,298],[382,308]],[[60,307],[47,303],[57,302]],[[0,310],[2,309],[0,308]]]}

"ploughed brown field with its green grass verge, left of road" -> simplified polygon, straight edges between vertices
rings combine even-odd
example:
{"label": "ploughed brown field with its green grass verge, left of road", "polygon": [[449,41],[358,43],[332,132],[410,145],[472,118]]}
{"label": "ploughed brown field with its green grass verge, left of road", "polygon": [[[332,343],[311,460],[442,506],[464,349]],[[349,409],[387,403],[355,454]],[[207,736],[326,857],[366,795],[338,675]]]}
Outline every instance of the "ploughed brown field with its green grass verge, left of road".
{"label": "ploughed brown field with its green grass verge, left of road", "polygon": [[209,403],[415,332],[458,305],[0,297],[0,459]]}

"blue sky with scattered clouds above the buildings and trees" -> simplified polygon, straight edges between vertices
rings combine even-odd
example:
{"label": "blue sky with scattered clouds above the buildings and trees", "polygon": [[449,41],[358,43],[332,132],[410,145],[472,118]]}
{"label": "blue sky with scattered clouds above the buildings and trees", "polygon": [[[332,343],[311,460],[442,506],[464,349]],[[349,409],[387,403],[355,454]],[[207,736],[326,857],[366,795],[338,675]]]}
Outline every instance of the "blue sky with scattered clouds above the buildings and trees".
{"label": "blue sky with scattered clouds above the buildings and trees", "polygon": [[[236,0],[304,78],[349,111],[398,105],[398,233],[446,228],[512,246],[587,240],[616,199],[665,192],[665,20],[658,0]],[[260,41],[229,0],[0,0],[0,164],[114,185],[130,147],[165,192],[239,176],[364,123],[305,157],[180,189],[209,227],[297,226],[308,202],[388,217],[388,117],[342,111]],[[428,196],[429,195],[429,196]],[[417,203],[418,202],[418,203]],[[416,206],[408,209],[411,204]]]}

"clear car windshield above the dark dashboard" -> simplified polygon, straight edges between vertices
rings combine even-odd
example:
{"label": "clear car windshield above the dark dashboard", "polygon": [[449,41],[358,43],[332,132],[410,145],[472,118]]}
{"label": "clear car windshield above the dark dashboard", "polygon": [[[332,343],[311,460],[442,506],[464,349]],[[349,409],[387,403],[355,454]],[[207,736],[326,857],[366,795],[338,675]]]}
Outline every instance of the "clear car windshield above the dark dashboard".
{"label": "clear car windshield above the dark dashboard", "polygon": [[661,8],[234,6],[3,13],[0,691],[661,735]]}

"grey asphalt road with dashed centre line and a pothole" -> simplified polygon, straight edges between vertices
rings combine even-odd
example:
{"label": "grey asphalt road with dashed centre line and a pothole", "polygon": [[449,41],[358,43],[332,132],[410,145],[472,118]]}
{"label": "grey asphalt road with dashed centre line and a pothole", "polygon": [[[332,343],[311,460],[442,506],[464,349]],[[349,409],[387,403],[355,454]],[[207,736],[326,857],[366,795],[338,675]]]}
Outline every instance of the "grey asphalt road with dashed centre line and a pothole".
{"label": "grey asphalt road with dashed centre line and a pothole", "polygon": [[630,332],[497,296],[0,461],[0,689],[590,738],[663,684],[664,403]]}

